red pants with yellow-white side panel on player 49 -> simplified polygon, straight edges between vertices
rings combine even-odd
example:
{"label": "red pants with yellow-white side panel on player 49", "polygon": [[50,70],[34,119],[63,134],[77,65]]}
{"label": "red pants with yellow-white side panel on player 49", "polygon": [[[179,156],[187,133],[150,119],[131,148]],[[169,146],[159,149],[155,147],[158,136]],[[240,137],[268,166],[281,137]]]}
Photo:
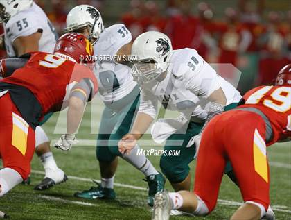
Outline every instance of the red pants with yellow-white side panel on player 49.
{"label": "red pants with yellow-white side panel on player 49", "polygon": [[206,126],[197,157],[194,193],[215,208],[224,167],[230,160],[244,201],[267,207],[269,167],[265,147],[265,122],[254,112],[231,110]]}

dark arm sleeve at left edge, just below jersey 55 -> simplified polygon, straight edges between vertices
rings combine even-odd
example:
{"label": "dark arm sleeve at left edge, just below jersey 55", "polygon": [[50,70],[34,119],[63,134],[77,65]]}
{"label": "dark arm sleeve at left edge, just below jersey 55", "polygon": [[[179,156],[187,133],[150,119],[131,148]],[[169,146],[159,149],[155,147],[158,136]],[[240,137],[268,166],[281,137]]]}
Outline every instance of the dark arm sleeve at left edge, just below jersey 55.
{"label": "dark arm sleeve at left edge, just below jersey 55", "polygon": [[13,72],[26,65],[28,58],[8,58],[0,60],[0,76],[11,76]]}

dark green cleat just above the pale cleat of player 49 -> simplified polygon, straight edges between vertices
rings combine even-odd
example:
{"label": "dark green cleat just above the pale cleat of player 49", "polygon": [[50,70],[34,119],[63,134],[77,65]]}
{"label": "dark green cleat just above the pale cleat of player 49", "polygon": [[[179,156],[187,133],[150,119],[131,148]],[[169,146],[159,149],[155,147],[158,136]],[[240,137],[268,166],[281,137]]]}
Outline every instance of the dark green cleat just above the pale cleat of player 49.
{"label": "dark green cleat just above the pale cleat of player 49", "polygon": [[157,192],[164,190],[166,180],[162,174],[152,174],[147,176],[145,182],[148,182],[148,205],[154,205],[154,196]]}

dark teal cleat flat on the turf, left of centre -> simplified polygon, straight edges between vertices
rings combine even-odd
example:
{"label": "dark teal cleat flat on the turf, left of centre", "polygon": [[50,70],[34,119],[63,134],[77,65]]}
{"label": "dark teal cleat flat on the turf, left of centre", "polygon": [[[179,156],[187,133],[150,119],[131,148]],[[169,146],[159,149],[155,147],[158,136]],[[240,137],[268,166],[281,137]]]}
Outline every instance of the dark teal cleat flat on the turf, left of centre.
{"label": "dark teal cleat flat on the turf, left of centre", "polygon": [[73,196],[87,199],[114,199],[116,197],[114,189],[102,187],[96,180],[92,181],[96,183],[97,187],[91,187],[88,190],[76,192]]}

